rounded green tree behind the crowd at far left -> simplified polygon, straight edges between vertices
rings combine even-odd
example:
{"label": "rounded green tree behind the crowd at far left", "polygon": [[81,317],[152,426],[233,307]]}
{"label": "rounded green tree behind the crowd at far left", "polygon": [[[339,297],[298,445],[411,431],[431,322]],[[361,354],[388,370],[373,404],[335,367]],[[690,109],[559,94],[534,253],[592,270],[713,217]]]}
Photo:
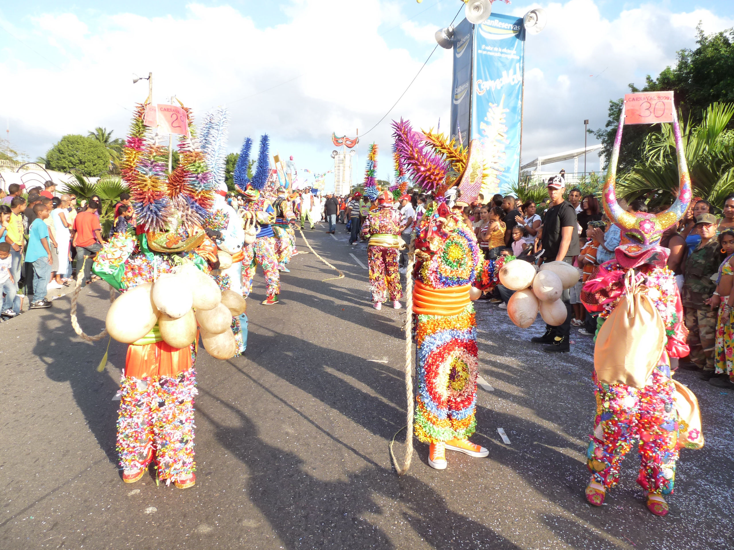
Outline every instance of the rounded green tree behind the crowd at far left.
{"label": "rounded green tree behind the crowd at far left", "polygon": [[79,172],[87,177],[96,177],[107,172],[109,154],[97,139],[69,134],[63,136],[46,153],[48,168],[59,172]]}

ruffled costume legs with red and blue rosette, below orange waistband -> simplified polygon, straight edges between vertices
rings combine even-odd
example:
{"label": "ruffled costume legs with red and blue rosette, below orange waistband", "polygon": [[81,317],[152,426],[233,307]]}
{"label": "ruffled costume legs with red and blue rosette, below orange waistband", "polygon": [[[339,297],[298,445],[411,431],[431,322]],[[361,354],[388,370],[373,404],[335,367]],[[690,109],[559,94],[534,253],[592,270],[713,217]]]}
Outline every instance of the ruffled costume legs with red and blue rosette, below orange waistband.
{"label": "ruffled costume legs with red and blue rosette, below orange waistband", "polygon": [[418,315],[415,331],[415,435],[424,443],[468,439],[476,430],[479,373],[474,307],[458,315]]}

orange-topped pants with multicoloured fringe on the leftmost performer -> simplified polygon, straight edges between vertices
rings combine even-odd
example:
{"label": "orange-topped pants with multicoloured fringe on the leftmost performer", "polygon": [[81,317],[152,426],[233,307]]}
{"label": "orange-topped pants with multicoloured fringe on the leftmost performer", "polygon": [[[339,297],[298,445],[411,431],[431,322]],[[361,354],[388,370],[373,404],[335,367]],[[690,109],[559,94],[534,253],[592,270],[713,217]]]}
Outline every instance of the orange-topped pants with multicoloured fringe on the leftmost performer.
{"label": "orange-topped pants with multicoloured fringe on the leftmost performer", "polygon": [[149,455],[160,480],[188,477],[194,462],[195,345],[128,346],[120,384],[117,453],[120,467],[139,470]]}

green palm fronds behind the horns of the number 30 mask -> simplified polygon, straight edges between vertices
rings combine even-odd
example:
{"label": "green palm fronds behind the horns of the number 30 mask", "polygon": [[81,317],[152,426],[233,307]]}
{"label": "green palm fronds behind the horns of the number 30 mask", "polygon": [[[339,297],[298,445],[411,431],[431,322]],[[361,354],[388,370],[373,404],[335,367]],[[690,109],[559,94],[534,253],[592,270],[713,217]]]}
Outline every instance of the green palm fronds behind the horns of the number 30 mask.
{"label": "green palm fronds behind the horns of the number 30 mask", "polygon": [[[683,149],[691,174],[694,197],[723,208],[734,192],[734,103],[712,103],[698,125],[681,124]],[[672,125],[661,125],[644,141],[642,161],[619,178],[617,188],[628,201],[647,197],[652,206],[671,205],[679,186],[675,136]]]}

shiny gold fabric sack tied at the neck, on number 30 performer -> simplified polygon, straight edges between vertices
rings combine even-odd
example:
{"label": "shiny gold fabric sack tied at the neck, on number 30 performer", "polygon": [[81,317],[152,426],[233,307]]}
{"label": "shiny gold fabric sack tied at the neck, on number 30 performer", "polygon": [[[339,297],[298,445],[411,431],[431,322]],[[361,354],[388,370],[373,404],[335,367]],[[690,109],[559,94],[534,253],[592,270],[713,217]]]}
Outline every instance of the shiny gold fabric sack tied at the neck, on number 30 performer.
{"label": "shiny gold fabric sack tied at the neck, on number 30 performer", "polygon": [[665,342],[663,318],[631,269],[625,275],[625,296],[599,329],[594,348],[597,378],[606,384],[644,387]]}

